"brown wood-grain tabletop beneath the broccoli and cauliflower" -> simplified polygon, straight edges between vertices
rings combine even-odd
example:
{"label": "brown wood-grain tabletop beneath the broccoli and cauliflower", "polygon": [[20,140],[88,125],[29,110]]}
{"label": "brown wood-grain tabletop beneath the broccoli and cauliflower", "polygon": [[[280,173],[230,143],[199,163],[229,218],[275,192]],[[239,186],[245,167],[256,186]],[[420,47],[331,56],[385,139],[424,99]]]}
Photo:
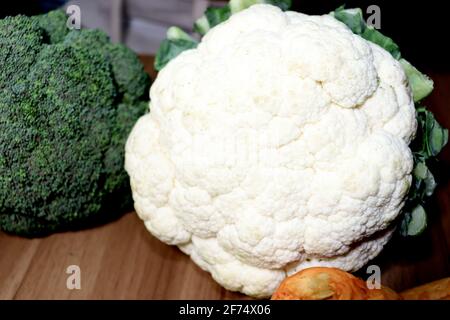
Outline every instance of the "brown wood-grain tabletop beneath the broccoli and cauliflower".
{"label": "brown wood-grain tabletop beneath the broccoli and cauliflower", "polygon": [[[153,76],[153,59],[142,57]],[[450,128],[450,73],[430,73],[426,100]],[[437,168],[440,186],[428,204],[429,229],[414,241],[393,239],[371,264],[382,282],[403,290],[450,276],[450,148]],[[66,287],[66,269],[81,269],[81,289]],[[358,275],[366,277],[363,268]],[[145,229],[135,213],[95,229],[24,239],[0,232],[0,299],[245,299],[216,284],[177,248]]]}

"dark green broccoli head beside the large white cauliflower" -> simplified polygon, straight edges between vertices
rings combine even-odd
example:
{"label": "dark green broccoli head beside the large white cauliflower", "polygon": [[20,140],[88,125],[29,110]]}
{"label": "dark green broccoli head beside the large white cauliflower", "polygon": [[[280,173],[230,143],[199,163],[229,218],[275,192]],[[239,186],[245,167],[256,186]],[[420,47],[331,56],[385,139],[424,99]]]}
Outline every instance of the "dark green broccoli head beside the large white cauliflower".
{"label": "dark green broccoli head beside the large white cauliflower", "polygon": [[[124,146],[148,108],[136,55],[63,11],[0,20],[0,229],[79,229],[131,209]],[[113,214],[114,212],[114,214]]]}

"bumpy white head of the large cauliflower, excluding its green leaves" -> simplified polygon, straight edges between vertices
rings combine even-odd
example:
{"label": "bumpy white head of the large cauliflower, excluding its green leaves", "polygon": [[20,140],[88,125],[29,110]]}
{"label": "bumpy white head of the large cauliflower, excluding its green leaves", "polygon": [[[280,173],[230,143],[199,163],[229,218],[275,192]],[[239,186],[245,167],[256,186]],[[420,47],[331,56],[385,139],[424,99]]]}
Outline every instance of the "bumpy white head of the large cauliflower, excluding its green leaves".
{"label": "bumpy white head of the large cauliflower, excluding its green leaves", "polygon": [[255,5],[172,60],[126,145],[135,209],[229,290],[361,268],[411,183],[400,64],[332,16]]}

